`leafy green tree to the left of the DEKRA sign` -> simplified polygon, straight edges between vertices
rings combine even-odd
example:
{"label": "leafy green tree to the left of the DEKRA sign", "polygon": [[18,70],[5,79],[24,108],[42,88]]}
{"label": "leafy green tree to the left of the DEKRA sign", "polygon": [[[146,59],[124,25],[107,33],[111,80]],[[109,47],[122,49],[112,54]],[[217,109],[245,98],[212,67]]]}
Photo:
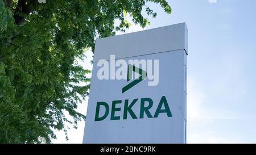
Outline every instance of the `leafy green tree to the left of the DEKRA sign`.
{"label": "leafy green tree to the left of the DEKRA sign", "polygon": [[142,11],[156,16],[147,2],[171,14],[165,0],[0,0],[0,143],[51,143],[53,129],[67,133],[64,122],[76,128],[90,82],[76,60],[129,28],[126,15],[145,27]]}

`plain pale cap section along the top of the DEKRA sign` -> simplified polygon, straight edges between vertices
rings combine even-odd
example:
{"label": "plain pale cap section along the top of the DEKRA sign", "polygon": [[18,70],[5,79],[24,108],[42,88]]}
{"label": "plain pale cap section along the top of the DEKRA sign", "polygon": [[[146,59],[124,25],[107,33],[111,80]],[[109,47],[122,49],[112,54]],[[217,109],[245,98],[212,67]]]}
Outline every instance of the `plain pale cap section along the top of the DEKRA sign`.
{"label": "plain pale cap section along the top of the DEKRA sign", "polygon": [[184,49],[188,54],[187,24],[152,28],[96,40],[93,62]]}

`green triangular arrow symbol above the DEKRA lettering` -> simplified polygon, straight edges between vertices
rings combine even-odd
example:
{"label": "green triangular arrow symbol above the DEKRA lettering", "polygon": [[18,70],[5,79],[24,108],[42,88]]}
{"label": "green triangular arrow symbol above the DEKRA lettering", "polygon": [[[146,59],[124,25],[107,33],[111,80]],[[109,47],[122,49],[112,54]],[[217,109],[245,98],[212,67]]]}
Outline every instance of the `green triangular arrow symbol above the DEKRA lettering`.
{"label": "green triangular arrow symbol above the DEKRA lettering", "polygon": [[128,85],[126,85],[125,87],[123,87],[122,89],[122,93],[125,93],[125,91],[129,90],[131,87],[137,85],[139,82],[141,82],[143,79],[145,79],[147,77],[147,72],[145,70],[142,70],[141,68],[137,68],[134,65],[128,65],[128,72],[127,72],[127,81],[129,81],[132,78],[132,73],[136,72],[138,74],[141,74],[140,77],[138,77],[137,79],[134,79],[133,82],[129,83]]}

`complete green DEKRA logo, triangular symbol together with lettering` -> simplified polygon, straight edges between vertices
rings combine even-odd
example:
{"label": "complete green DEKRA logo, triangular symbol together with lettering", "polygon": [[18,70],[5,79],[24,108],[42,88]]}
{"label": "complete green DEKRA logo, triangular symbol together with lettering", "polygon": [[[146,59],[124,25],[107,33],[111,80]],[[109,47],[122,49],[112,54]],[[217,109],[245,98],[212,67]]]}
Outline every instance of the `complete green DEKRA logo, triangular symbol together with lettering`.
{"label": "complete green DEKRA logo, triangular symbol together with lettering", "polygon": [[[141,76],[137,79],[134,79],[134,81],[130,82],[126,86],[122,88],[122,93],[125,93],[127,90],[131,89],[131,87],[137,85],[139,82],[141,82],[143,79],[146,78],[147,72],[142,70],[141,68],[137,68],[134,65],[128,65],[127,70],[127,82],[132,79],[132,73],[136,72],[140,74]],[[163,96],[159,103],[158,107],[156,108],[156,111],[154,112],[154,115],[151,114],[150,109],[154,105],[154,102],[151,98],[141,98],[139,104],[141,104],[139,114],[135,114],[133,111],[133,106],[138,103],[139,99],[133,99],[131,102],[129,99],[125,100],[113,100],[112,106],[110,107],[108,103],[106,102],[97,102],[96,104],[96,113],[95,113],[95,121],[101,121],[108,117],[110,114],[110,120],[120,120],[120,119],[127,119],[127,116],[130,115],[133,119],[143,119],[144,115],[146,114],[147,118],[158,118],[159,114],[165,113],[168,117],[172,117],[170,107],[168,105],[167,99],[165,96]],[[122,106],[119,106],[122,104]],[[117,115],[116,113],[118,111],[121,111],[121,107],[123,107],[123,115]],[[162,108],[163,107],[163,108]],[[104,114],[100,111],[104,111]],[[100,115],[101,114],[101,115]]]}

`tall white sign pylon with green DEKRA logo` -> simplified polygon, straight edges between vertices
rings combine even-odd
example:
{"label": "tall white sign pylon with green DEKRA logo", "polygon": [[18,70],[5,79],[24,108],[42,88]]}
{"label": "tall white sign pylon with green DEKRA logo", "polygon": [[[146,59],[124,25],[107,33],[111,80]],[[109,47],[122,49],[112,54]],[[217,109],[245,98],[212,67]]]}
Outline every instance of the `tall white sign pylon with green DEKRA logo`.
{"label": "tall white sign pylon with green DEKRA logo", "polygon": [[185,23],[96,40],[83,143],[186,143]]}

